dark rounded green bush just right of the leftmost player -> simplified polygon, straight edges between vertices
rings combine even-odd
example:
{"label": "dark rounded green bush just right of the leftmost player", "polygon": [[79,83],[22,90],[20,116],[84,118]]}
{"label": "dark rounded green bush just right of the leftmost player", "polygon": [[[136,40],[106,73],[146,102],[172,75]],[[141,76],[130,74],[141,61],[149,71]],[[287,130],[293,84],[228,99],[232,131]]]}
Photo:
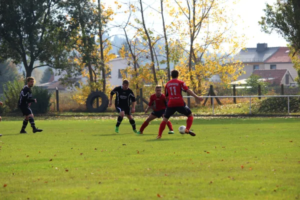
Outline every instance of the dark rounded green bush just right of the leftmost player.
{"label": "dark rounded green bush just right of the leftmost player", "polygon": [[33,114],[49,111],[51,93],[47,89],[38,86],[32,87],[32,98],[36,98],[37,101],[36,103],[32,102],[30,105]]}

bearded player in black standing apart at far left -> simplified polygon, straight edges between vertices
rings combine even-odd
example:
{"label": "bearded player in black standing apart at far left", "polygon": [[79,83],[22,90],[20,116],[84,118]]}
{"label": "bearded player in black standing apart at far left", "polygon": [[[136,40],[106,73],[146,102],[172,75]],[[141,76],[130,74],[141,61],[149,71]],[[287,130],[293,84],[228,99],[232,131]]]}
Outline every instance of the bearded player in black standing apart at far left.
{"label": "bearded player in black standing apart at far left", "polygon": [[27,133],[25,131],[25,128],[27,126],[28,121],[31,124],[33,133],[41,132],[42,129],[38,129],[35,127],[33,114],[29,107],[31,102],[36,103],[36,98],[32,99],[32,92],[31,92],[31,87],[33,87],[34,78],[27,77],[26,81],[27,81],[27,84],[22,88],[22,90],[20,92],[19,101],[18,101],[19,108],[21,109],[23,116],[25,115],[25,118],[23,120],[23,126],[22,126],[20,133]]}

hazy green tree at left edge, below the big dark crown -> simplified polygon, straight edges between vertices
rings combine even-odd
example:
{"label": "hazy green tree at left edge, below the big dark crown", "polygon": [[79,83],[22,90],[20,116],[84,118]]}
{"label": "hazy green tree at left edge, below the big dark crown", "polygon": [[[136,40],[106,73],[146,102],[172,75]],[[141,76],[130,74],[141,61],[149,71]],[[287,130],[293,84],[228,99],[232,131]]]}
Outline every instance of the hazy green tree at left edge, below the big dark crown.
{"label": "hazy green tree at left edge, below the big dark crown", "polygon": [[0,93],[3,93],[3,85],[8,81],[13,81],[19,76],[15,64],[9,60],[0,63]]}

